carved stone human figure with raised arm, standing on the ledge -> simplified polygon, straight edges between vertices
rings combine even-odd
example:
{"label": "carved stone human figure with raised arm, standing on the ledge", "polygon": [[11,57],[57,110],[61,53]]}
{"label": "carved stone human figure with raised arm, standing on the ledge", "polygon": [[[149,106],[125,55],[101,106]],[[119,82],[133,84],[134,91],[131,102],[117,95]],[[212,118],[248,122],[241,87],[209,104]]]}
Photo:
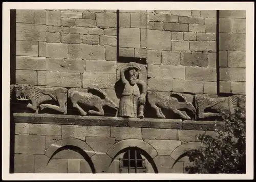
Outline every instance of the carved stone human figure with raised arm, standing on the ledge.
{"label": "carved stone human figure with raised arm, standing on the ledge", "polygon": [[120,78],[124,84],[124,89],[119,102],[119,117],[144,118],[146,84],[139,80],[140,72],[141,68],[135,62],[128,63],[120,70]]}

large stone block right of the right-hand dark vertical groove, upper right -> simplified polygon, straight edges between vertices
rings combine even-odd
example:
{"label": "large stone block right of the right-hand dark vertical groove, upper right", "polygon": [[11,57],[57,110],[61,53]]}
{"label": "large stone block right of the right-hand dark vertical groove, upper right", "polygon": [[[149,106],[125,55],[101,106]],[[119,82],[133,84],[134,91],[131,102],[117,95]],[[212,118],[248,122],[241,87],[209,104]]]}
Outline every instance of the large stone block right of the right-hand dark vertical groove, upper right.
{"label": "large stone block right of the right-hand dark vertical groove, upper right", "polygon": [[220,50],[245,51],[245,34],[220,33]]}

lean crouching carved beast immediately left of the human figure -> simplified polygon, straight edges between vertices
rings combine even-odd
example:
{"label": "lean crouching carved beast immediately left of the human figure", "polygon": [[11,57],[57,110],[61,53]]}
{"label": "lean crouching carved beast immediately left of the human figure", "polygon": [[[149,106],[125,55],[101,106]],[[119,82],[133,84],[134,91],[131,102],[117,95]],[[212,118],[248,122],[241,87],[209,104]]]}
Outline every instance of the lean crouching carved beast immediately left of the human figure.
{"label": "lean crouching carved beast immediately left of the human figure", "polygon": [[[95,95],[94,95],[95,94]],[[118,106],[106,96],[106,94],[98,88],[89,88],[88,92],[80,92],[76,88],[68,90],[68,97],[70,98],[73,107],[77,108],[82,116],[86,116],[87,112],[84,111],[79,105],[83,104],[90,107],[96,107],[98,111],[89,110],[91,115],[104,115],[103,106],[107,105],[117,110]]]}

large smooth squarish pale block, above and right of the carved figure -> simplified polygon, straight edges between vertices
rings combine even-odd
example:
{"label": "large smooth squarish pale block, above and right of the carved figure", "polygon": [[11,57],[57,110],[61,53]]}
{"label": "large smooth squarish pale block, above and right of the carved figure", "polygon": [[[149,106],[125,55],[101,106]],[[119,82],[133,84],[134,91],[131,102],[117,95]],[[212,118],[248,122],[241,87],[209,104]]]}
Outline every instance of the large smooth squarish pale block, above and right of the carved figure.
{"label": "large smooth squarish pale block, above and right of the carved figure", "polygon": [[170,32],[148,30],[147,49],[170,51]]}

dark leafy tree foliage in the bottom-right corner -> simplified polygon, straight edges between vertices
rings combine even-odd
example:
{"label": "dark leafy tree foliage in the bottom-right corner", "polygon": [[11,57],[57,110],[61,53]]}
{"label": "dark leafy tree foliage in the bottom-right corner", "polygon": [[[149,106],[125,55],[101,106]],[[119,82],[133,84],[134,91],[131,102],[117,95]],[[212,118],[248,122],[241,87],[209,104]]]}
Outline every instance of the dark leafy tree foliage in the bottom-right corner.
{"label": "dark leafy tree foliage in the bottom-right corner", "polygon": [[188,173],[246,173],[245,165],[245,109],[237,108],[232,114],[223,113],[223,129],[215,129],[217,137],[200,134],[205,147],[188,151],[193,165]]}

